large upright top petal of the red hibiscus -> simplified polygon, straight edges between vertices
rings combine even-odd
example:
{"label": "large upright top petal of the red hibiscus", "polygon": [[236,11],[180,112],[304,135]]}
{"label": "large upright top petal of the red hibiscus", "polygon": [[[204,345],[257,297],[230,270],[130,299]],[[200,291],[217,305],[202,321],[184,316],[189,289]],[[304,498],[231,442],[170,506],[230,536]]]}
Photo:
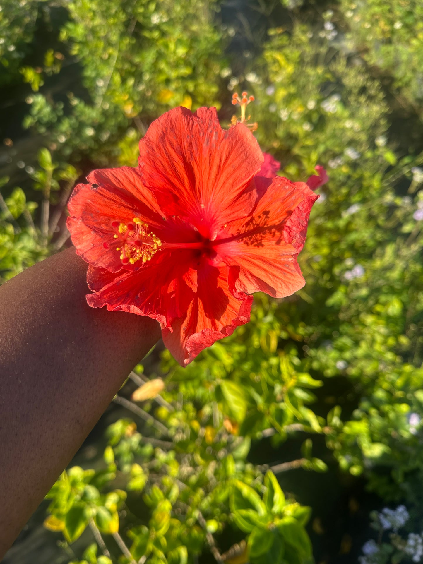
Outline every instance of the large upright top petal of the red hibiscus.
{"label": "large upright top petal of the red hibiscus", "polygon": [[254,195],[246,190],[263,162],[242,124],[223,130],[215,108],[175,108],[159,117],[139,143],[140,175],[168,215],[186,218],[213,240],[218,228],[246,217]]}

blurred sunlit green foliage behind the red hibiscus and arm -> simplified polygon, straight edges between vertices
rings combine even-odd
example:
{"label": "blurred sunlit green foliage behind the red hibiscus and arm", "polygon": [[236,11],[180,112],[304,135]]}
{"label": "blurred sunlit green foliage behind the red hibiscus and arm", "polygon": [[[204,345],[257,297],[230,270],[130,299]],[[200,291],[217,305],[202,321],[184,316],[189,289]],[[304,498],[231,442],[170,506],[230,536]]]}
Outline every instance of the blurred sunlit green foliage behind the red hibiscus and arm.
{"label": "blurred sunlit green foliage behind the red hibiscus and arm", "polygon": [[[3,3],[0,89],[17,117],[5,118],[0,155],[2,281],[67,244],[74,182],[135,165],[149,122],[175,105],[215,105],[229,124],[231,94],[246,89],[282,174],[305,180],[316,164],[329,174],[300,255],[306,287],[255,296],[251,323],[186,369],[153,351],[115,398],[129,411],[109,426],[104,461],[52,488],[45,525],[63,532],[74,562],[310,562],[314,508],[275,478],[299,468],[335,468],[340,482],[350,475],[381,504],[418,513],[421,10],[413,0]],[[155,378],[165,384],[155,399],[128,399]],[[269,437],[278,452],[299,440],[301,454],[253,464],[252,442],[259,452]],[[85,547],[73,545],[83,533]]]}

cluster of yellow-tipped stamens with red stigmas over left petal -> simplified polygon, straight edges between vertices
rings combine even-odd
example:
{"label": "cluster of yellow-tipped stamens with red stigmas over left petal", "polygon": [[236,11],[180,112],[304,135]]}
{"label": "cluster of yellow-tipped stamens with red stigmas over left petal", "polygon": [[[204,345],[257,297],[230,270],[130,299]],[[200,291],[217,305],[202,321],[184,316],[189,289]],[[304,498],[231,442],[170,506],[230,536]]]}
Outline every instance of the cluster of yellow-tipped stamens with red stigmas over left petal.
{"label": "cluster of yellow-tipped stamens with red stigmas over left petal", "polygon": [[139,260],[147,262],[160,250],[161,240],[153,232],[149,232],[148,224],[138,217],[134,217],[130,223],[113,221],[112,227],[116,230],[113,237],[120,244],[116,250],[120,250],[124,265],[133,265]]}

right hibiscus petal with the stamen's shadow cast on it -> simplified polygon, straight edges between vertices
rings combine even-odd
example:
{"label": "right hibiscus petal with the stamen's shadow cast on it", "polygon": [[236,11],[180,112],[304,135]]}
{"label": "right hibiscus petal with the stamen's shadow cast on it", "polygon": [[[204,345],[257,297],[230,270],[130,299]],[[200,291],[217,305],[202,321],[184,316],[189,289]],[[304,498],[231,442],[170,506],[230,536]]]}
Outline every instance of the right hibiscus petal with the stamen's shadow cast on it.
{"label": "right hibiscus petal with the stamen's shadow cast on it", "polygon": [[218,245],[218,254],[231,267],[232,293],[261,291],[282,298],[305,284],[297,255],[318,196],[305,183],[282,177],[261,188],[252,217],[231,224],[233,237]]}

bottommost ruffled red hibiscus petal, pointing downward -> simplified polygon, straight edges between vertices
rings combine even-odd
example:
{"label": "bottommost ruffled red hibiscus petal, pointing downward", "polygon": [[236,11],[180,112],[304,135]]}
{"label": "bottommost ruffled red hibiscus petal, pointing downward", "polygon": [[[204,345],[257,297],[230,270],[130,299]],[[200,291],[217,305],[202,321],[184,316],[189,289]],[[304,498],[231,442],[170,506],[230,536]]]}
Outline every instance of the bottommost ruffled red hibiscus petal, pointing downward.
{"label": "bottommost ruffled red hibiscus petal, pointing downward", "polygon": [[252,296],[234,297],[228,287],[228,268],[205,265],[198,273],[198,289],[186,314],[162,327],[163,341],[182,366],[218,339],[231,335],[250,320]]}

